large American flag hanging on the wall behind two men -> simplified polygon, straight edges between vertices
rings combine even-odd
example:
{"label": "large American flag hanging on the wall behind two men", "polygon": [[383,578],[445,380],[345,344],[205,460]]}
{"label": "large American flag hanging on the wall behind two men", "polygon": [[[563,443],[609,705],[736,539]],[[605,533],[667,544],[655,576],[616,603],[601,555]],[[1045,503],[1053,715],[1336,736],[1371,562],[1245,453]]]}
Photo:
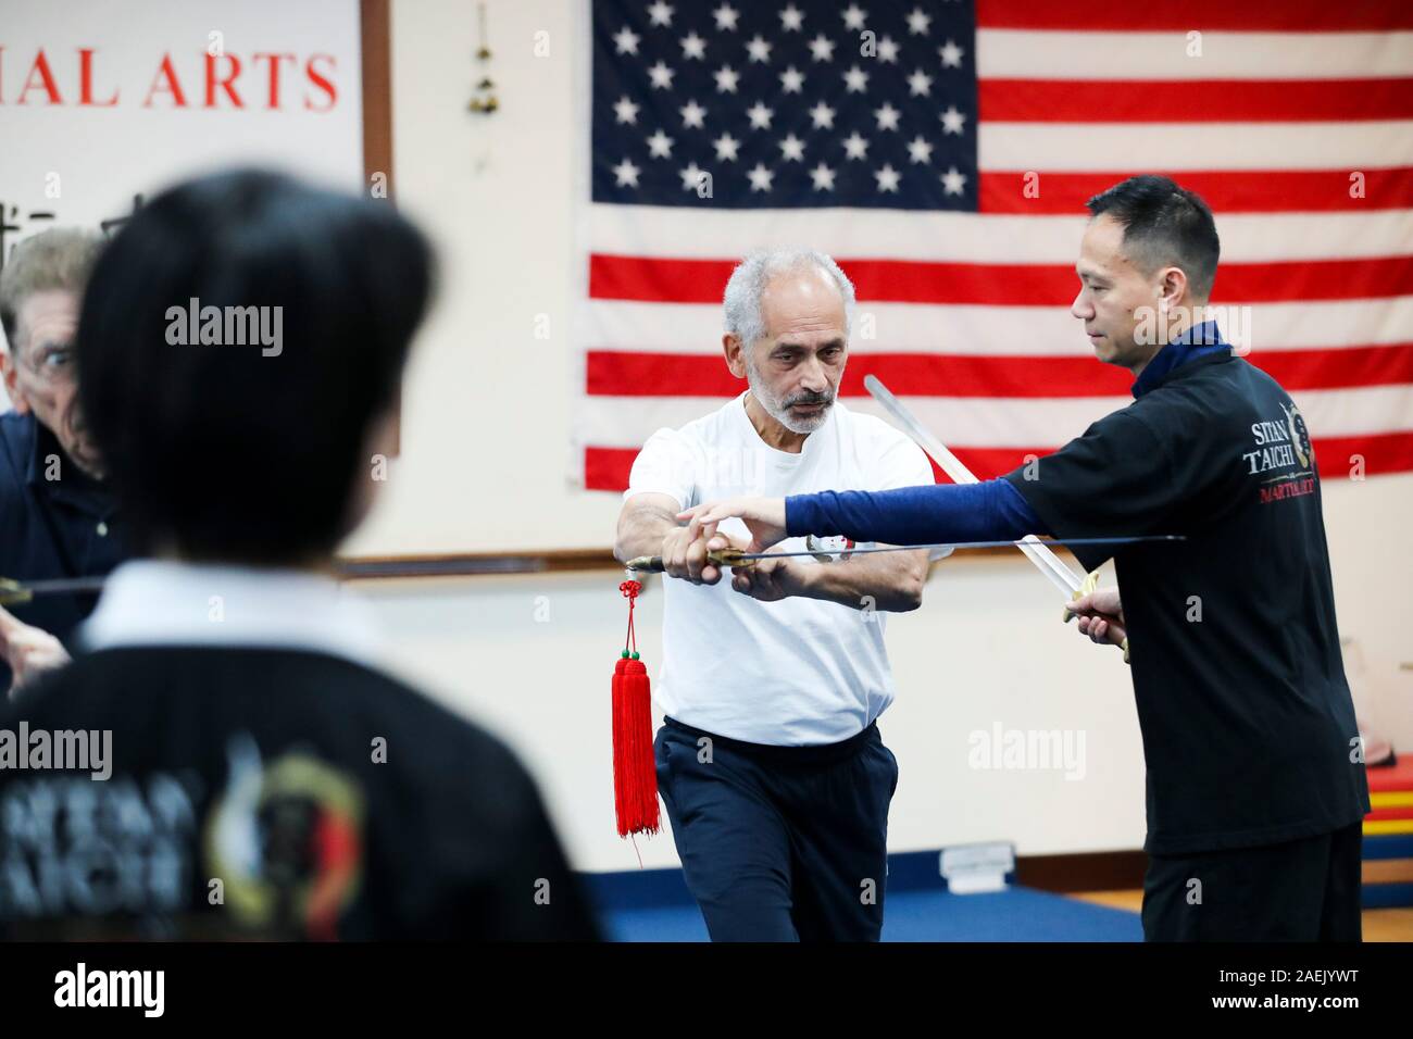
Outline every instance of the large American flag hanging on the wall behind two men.
{"label": "large American flag hanging on the wall behind two men", "polygon": [[1068,305],[1137,172],[1212,206],[1212,304],[1321,474],[1413,471],[1407,0],[592,0],[591,65],[585,488],[743,389],[721,295],[767,245],[858,287],[851,407],[879,376],[982,478],[1056,450],[1132,400]]}

